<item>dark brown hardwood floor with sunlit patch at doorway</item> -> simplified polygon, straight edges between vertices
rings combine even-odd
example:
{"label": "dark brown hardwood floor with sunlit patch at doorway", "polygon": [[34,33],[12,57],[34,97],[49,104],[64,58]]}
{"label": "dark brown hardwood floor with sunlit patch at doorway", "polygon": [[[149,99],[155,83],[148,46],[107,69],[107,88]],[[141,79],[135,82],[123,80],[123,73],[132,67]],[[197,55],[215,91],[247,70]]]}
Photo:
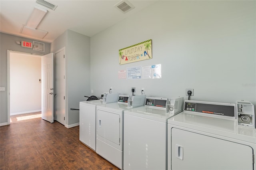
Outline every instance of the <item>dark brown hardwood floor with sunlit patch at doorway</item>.
{"label": "dark brown hardwood floor with sunlit patch at doorway", "polygon": [[11,116],[0,127],[1,170],[118,170],[80,142],[79,126],[27,119],[36,114]]}

